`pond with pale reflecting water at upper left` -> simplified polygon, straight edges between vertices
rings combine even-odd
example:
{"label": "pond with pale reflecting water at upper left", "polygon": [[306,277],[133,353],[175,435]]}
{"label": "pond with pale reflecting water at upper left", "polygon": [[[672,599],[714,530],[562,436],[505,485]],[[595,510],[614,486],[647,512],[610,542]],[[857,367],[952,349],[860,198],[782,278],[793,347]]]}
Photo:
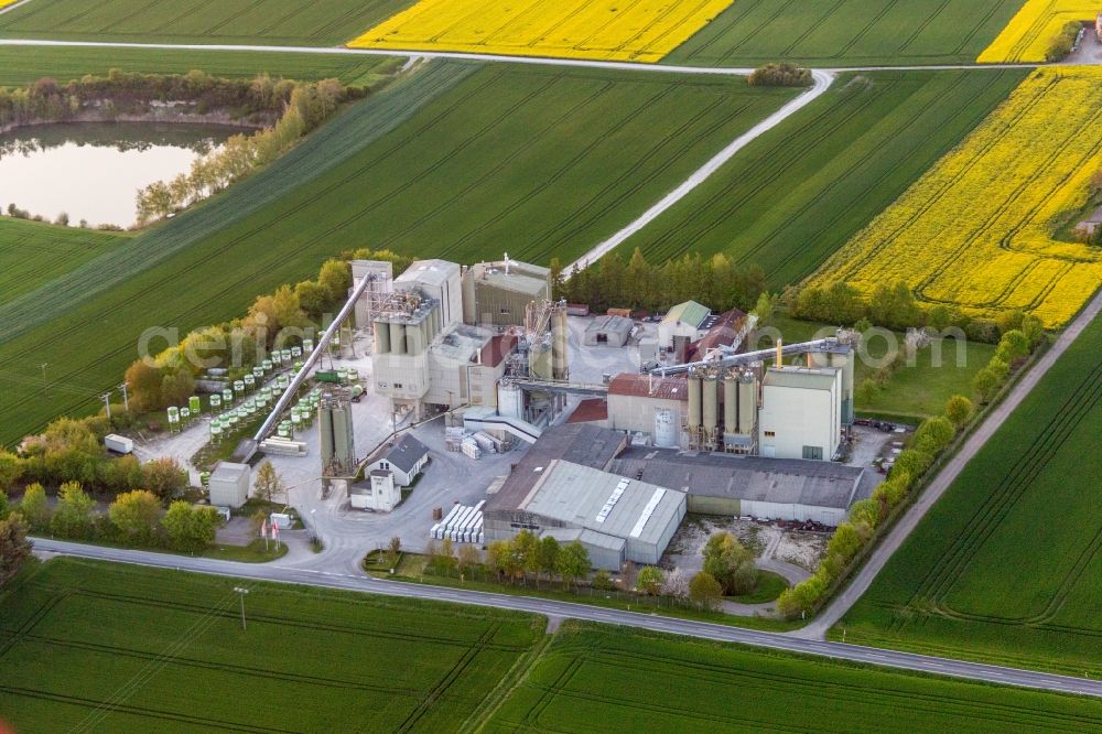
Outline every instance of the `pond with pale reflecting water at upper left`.
{"label": "pond with pale reflecting water at upper left", "polygon": [[53,222],[129,227],[134,198],[222,145],[238,128],[166,122],[74,122],[0,136],[0,208],[14,204]]}

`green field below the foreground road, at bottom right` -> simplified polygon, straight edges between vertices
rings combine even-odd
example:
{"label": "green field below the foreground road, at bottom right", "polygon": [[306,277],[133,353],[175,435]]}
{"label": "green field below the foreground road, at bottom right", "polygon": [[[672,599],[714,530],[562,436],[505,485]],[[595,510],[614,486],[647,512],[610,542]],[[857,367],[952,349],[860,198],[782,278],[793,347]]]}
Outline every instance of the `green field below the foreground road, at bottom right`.
{"label": "green field below the foreground road, at bottom right", "polygon": [[568,624],[488,732],[1093,732],[1102,702]]}

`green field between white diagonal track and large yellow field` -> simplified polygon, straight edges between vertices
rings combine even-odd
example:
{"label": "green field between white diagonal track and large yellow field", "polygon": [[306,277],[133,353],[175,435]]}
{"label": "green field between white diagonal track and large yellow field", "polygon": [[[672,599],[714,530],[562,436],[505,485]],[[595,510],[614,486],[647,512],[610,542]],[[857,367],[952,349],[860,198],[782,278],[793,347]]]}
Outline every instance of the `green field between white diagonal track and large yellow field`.
{"label": "green field between white diagonal track and large yellow field", "polygon": [[629,239],[651,262],[724,252],[796,284],[959,143],[1019,71],[846,75]]}

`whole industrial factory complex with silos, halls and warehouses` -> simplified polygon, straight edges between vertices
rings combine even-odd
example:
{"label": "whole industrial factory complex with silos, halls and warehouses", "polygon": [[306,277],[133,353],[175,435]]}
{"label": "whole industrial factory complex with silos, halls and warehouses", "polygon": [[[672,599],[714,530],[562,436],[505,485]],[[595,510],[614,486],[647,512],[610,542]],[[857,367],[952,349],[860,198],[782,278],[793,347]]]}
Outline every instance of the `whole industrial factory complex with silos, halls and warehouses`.
{"label": "whole industrial factory complex with silos, halls and warehouses", "polygon": [[[587,309],[555,301],[548,269],[508,256],[418,261],[398,277],[355,261],[353,276],[346,310],[374,407],[332,386],[317,409],[323,493],[349,511],[392,512],[431,477],[432,432],[458,461],[508,458],[483,479],[437,477],[480,484],[465,488],[469,504],[437,508],[426,538],[486,544],[529,530],[579,541],[609,570],[658,563],[687,514],[829,527],[871,492],[865,468],[838,461],[853,422],[845,334],[747,350],[753,315],[694,301],[658,320],[572,316]],[[365,410],[393,431],[360,454]],[[420,439],[408,428],[419,425]],[[311,452],[300,436],[287,453]]]}

